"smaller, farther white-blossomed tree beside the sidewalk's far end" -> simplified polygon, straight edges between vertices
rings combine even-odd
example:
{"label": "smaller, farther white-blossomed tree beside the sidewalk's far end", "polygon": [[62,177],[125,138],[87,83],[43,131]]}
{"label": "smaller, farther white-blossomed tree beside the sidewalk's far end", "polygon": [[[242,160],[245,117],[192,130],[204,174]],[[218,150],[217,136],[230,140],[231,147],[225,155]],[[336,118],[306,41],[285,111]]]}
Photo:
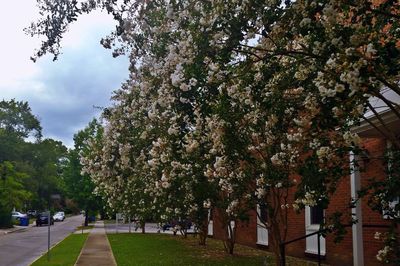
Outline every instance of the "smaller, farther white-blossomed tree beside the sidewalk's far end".
{"label": "smaller, farther white-blossomed tree beside the sidewalk's far end", "polygon": [[89,152],[82,154],[82,163],[83,171],[93,178],[109,207],[137,219],[144,232],[144,222],[153,211],[143,155],[149,143],[141,137],[138,119],[143,116],[135,96],[123,89],[114,96],[118,105],[104,111],[105,131],[90,142]]}

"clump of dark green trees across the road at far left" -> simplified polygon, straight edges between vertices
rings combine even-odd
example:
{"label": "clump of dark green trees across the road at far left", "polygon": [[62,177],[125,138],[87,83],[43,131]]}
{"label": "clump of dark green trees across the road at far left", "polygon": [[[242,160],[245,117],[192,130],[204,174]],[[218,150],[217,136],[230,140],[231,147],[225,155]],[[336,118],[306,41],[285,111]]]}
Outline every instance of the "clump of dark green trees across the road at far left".
{"label": "clump of dark green trees across the road at far left", "polygon": [[[13,203],[3,199],[6,195],[2,194],[4,206],[7,211],[13,207],[24,211],[47,209],[51,194],[63,194],[60,161],[65,156],[65,146],[41,139],[40,122],[27,102],[1,101],[0,121],[0,164],[4,164],[3,179],[8,180],[4,184],[13,190],[16,200]],[[9,211],[4,215],[11,218]]]}

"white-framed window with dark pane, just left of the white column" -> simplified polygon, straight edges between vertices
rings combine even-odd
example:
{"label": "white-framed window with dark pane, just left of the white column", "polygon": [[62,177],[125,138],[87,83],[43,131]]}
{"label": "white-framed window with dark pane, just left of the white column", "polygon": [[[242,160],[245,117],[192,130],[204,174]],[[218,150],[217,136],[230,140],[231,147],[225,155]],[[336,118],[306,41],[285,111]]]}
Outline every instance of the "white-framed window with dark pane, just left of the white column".
{"label": "white-framed window with dark pane, just left of the white column", "polygon": [[[321,222],[324,220],[324,209],[319,206],[306,206],[306,234],[317,232]],[[326,254],[325,238],[320,236],[321,256]],[[318,255],[318,235],[306,238],[306,253]]]}

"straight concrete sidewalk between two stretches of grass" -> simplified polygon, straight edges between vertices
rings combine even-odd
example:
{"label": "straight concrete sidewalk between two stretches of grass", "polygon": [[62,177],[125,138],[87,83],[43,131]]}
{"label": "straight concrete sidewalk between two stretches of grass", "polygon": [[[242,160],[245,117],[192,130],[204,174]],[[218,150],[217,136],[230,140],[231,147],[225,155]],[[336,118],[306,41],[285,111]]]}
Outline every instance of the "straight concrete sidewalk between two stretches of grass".
{"label": "straight concrete sidewalk between two stretches of grass", "polygon": [[75,265],[116,266],[114,255],[104,229],[103,221],[95,223]]}

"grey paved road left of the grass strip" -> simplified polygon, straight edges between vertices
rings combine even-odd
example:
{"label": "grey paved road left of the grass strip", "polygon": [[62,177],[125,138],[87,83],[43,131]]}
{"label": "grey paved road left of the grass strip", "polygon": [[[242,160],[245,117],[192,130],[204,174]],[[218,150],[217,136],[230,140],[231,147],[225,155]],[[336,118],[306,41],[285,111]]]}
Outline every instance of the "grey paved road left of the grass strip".
{"label": "grey paved road left of the grass strip", "polygon": [[[82,215],[68,217],[64,222],[54,223],[50,227],[51,245],[57,244],[75,228],[82,224]],[[29,227],[0,236],[0,265],[1,266],[26,266],[47,251],[47,226]],[[50,253],[51,254],[51,253]]]}

